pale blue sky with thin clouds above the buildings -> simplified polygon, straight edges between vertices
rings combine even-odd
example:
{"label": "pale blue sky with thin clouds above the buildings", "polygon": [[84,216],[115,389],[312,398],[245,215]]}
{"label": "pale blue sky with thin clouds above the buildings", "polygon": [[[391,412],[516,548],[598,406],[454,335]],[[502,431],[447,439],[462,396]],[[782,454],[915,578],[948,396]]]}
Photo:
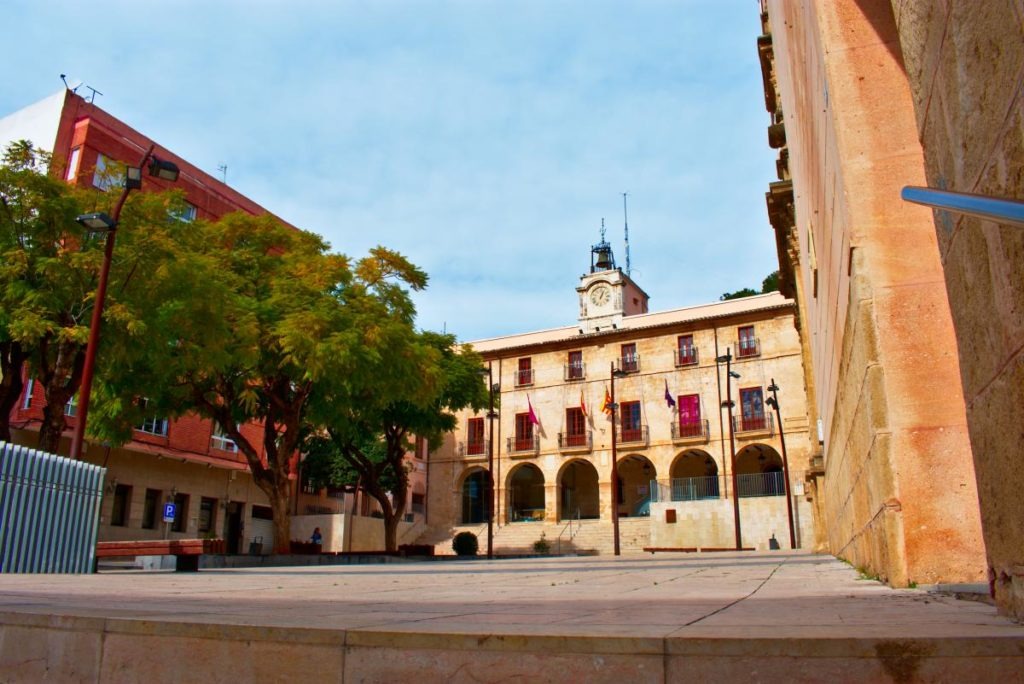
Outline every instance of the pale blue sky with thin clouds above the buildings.
{"label": "pale blue sky with thin clouds above the buildings", "polygon": [[[63,87],[358,257],[418,324],[569,326],[607,226],[652,311],[777,268],[756,0],[4,0],[0,116]],[[80,88],[79,93],[88,91]]]}

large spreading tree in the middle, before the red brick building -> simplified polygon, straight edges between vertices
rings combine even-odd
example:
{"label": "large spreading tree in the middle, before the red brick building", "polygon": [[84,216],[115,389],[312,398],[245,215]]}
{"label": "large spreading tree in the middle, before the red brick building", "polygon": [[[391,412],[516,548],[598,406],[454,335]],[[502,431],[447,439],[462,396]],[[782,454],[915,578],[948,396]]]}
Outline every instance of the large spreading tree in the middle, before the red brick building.
{"label": "large spreading tree in the middle, before the red brick building", "polygon": [[352,265],[270,216],[195,225],[193,277],[204,293],[160,305],[160,326],[176,330],[176,342],[125,364],[119,381],[130,375],[140,392],[152,388],[146,411],[216,421],[269,500],[274,551],[288,553],[298,447],[321,429],[309,402],[349,383],[390,386],[390,369],[403,362],[394,340],[412,334],[404,287],[424,287],[426,275],[383,248]]}

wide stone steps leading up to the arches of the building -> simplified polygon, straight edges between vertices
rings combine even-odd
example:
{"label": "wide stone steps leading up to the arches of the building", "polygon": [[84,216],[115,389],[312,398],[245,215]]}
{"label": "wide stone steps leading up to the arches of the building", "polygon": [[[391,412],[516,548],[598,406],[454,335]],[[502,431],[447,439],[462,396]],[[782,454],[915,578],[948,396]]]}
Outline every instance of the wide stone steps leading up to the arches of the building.
{"label": "wide stone steps leading up to the arches of the building", "polygon": [[[534,543],[544,535],[551,545],[551,554],[611,555],[614,550],[611,522],[608,520],[581,520],[572,522],[569,539],[568,521],[513,522],[495,525],[495,554],[500,556],[532,555]],[[471,531],[479,542],[480,554],[487,550],[486,524],[458,525],[446,528],[429,528],[416,541],[432,544],[438,556],[454,555],[452,540],[461,531]],[[559,536],[560,539],[559,539]],[[650,518],[620,518],[618,546],[624,554],[642,553],[650,546]]]}

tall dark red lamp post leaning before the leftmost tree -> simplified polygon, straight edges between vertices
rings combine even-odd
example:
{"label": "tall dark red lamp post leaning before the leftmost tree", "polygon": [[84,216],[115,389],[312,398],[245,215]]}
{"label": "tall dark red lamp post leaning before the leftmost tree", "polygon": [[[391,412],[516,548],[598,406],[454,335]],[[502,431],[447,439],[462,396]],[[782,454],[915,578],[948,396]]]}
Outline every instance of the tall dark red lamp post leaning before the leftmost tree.
{"label": "tall dark red lamp post leaning before the leftmost tree", "polygon": [[71,458],[79,460],[82,457],[82,442],[85,438],[85,423],[89,416],[89,396],[92,393],[92,374],[96,362],[96,347],[99,345],[99,326],[103,318],[103,303],[106,300],[106,283],[111,273],[111,262],[114,260],[114,241],[118,231],[118,220],[125,206],[128,194],[142,187],[142,167],[150,162],[150,175],[174,182],[178,179],[178,167],[172,162],[165,162],[153,156],[153,144],[150,145],[138,166],[125,169],[125,186],[121,197],[114,205],[114,214],[108,216],[102,212],[83,214],[75,220],[90,230],[105,230],[106,245],[103,248],[103,264],[99,268],[99,284],[96,286],[96,299],[92,305],[92,320],[89,324],[89,341],[85,347],[85,365],[82,368],[82,384],[78,393],[78,417],[75,422],[75,433],[71,439]]}

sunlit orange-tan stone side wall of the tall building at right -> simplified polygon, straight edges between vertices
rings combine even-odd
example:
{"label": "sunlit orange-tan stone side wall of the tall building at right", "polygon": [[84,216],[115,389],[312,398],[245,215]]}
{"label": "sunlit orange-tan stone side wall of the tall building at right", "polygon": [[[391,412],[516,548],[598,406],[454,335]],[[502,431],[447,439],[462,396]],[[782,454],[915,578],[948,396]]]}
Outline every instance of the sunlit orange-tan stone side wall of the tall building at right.
{"label": "sunlit orange-tan stone side wall of the tall building at right", "polygon": [[[911,92],[881,0],[765,0],[758,41],[780,149],[768,194],[800,299],[833,553],[891,584],[976,583],[984,544],[952,318]],[[814,418],[814,416],[812,416]]]}

